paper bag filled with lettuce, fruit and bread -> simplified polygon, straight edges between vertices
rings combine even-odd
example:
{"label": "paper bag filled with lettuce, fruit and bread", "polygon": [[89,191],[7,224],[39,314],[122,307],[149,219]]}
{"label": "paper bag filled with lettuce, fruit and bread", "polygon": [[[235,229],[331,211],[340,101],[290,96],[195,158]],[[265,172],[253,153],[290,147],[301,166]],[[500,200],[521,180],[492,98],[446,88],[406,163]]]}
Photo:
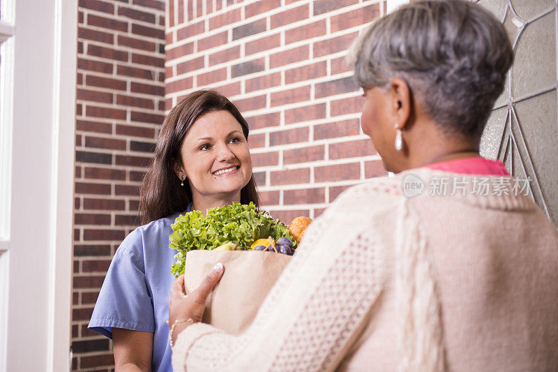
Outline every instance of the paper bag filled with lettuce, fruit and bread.
{"label": "paper bag filled with lettuce, fruit and bread", "polygon": [[211,208],[206,216],[188,212],[172,225],[169,248],[177,253],[171,272],[186,274],[188,293],[222,262],[225,273],[207,298],[203,321],[239,334],[254,319],[311,221],[298,217],[287,228],[253,203]]}

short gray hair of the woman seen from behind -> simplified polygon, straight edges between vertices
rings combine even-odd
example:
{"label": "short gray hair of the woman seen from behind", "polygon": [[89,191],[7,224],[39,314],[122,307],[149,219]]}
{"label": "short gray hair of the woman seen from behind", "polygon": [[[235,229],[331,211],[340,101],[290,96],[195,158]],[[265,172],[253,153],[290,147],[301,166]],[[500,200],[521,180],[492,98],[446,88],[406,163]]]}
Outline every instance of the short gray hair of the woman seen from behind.
{"label": "short gray hair of the woman seen from behind", "polygon": [[372,22],[348,58],[363,89],[401,77],[446,133],[478,140],[513,50],[502,23],[480,5],[427,0]]}

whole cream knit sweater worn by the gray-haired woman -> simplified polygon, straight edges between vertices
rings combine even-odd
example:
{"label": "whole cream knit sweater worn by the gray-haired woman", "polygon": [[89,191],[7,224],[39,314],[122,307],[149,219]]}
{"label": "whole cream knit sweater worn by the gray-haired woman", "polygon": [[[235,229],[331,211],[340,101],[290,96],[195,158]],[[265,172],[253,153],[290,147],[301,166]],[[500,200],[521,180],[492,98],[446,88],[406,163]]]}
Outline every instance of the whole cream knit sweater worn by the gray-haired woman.
{"label": "whole cream knit sweater worn by the gray-haired woman", "polygon": [[[429,195],[446,177],[467,186]],[[248,330],[187,327],[174,371],[558,371],[558,233],[505,184],[421,168],[350,188]]]}

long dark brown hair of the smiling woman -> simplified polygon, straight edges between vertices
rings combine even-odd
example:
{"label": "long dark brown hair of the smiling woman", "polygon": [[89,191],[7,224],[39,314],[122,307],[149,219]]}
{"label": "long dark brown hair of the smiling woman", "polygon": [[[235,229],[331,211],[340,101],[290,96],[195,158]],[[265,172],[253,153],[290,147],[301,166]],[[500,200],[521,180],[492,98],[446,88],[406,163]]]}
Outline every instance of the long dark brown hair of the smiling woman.
{"label": "long dark brown hair of the smiling woman", "polygon": [[[227,97],[211,90],[199,90],[188,94],[170,110],[159,133],[155,158],[140,187],[140,221],[142,225],[185,211],[192,202],[192,191],[188,182],[181,181],[174,173],[174,163],[181,162],[180,149],[186,133],[197,118],[219,110],[226,110],[242,126],[248,140],[248,123],[239,109]],[[253,202],[259,207],[254,177],[241,190],[242,204]]]}

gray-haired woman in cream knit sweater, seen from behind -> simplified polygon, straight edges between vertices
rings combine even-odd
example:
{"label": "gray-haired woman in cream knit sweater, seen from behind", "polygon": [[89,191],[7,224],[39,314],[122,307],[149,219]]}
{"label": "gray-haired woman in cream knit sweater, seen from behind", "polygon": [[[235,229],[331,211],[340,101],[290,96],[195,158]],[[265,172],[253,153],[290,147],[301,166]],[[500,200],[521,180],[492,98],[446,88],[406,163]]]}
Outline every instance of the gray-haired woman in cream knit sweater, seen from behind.
{"label": "gray-haired woman in cream knit sweater, seen from behind", "polygon": [[188,296],[179,278],[174,369],[557,371],[557,230],[478,155],[513,60],[502,24],[467,1],[414,1],[351,54],[361,126],[398,174],[310,225],[240,336],[199,322],[223,267]]}

